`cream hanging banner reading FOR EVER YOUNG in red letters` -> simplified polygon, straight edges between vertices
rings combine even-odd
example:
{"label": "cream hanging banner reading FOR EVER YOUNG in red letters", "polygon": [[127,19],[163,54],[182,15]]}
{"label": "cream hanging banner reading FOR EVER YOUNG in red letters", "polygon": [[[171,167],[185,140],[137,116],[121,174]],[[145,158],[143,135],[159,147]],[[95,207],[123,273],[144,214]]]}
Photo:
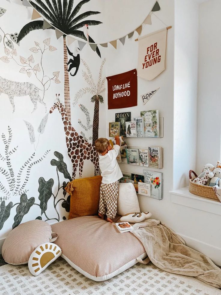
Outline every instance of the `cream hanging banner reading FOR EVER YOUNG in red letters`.
{"label": "cream hanging banner reading FOR EVER YOUNG in red letters", "polygon": [[153,80],[165,69],[167,28],[138,38],[138,77]]}

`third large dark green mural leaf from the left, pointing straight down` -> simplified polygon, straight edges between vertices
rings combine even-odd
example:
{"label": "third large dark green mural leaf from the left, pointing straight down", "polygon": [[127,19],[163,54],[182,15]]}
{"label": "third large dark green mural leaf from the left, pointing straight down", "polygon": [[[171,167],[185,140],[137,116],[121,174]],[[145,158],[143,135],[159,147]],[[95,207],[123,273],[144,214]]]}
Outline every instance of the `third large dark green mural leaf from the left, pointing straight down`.
{"label": "third large dark green mural leaf from the left, pointing straight down", "polygon": [[54,184],[54,180],[50,178],[48,181],[44,180],[44,177],[40,177],[38,180],[39,187],[39,197],[40,200],[40,208],[41,208],[41,215],[47,210],[47,202],[52,195],[52,187]]}

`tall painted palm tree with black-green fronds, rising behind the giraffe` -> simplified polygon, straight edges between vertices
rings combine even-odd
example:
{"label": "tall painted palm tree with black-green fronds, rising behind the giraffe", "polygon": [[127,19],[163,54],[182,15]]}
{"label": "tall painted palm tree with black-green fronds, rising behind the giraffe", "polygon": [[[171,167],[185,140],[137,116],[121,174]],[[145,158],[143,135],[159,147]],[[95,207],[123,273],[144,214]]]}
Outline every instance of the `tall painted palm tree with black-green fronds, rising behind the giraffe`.
{"label": "tall painted palm tree with black-green fronds, rising behind the giraffe", "polygon": [[[34,1],[34,2],[33,2]],[[66,47],[66,35],[73,35],[80,37],[87,41],[83,31],[79,30],[83,28],[85,24],[89,26],[98,25],[101,22],[98,20],[84,20],[86,17],[89,17],[93,14],[99,14],[99,11],[86,11],[81,14],[78,14],[80,8],[89,2],[90,0],[81,0],[74,8],[74,0],[63,0],[63,5],[61,0],[44,0],[44,3],[41,0],[29,1],[30,4],[38,11],[48,23],[52,24],[55,28],[59,29],[65,35],[63,35],[63,45],[64,45],[64,97],[65,97],[65,109],[68,114],[69,121],[71,121],[71,106],[70,106],[70,88],[69,88],[69,77],[67,71],[67,62],[68,54]],[[78,14],[76,16],[76,14]],[[30,23],[27,23],[21,29],[18,35],[18,41],[21,41],[29,32],[33,30],[43,29],[43,20],[35,20]],[[50,27],[49,29],[54,29]],[[89,42],[95,43],[94,40],[89,36]],[[101,57],[98,47],[96,52]]]}

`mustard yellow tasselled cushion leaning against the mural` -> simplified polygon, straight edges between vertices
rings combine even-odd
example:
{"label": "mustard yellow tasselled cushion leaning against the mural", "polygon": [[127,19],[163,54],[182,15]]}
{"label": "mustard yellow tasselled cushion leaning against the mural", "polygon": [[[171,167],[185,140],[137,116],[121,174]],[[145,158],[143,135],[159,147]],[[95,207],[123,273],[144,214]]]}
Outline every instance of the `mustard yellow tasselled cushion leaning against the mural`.
{"label": "mustard yellow tasselled cushion leaning against the mural", "polygon": [[69,218],[98,214],[102,177],[75,179],[65,188],[71,195]]}

